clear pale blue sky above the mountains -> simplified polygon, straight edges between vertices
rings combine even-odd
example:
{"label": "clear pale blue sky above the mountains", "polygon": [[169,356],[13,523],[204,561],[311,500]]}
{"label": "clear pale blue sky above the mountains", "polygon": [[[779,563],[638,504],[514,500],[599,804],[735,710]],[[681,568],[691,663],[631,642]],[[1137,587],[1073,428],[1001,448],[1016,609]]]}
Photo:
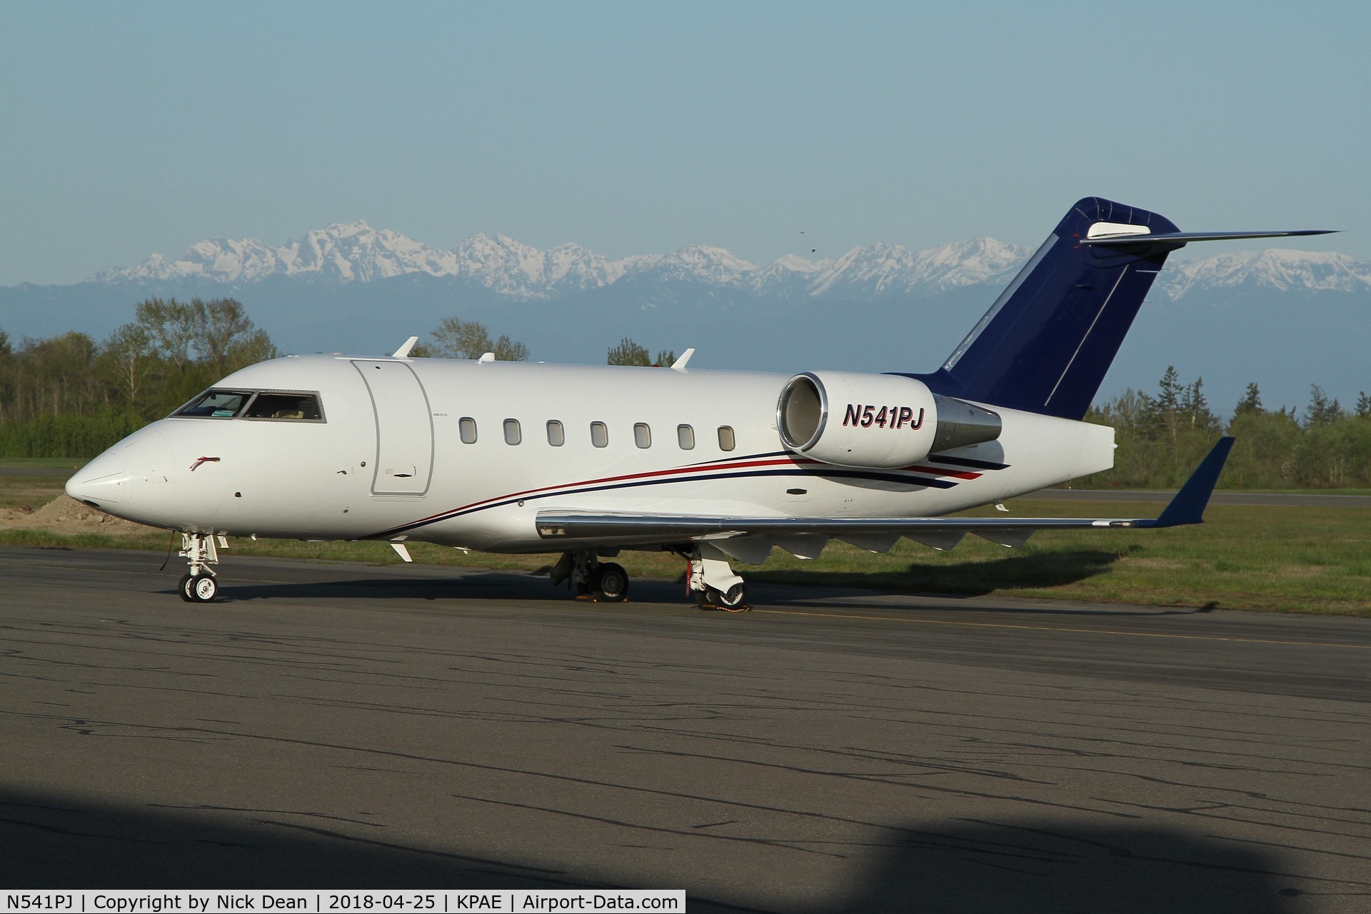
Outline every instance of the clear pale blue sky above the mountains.
{"label": "clear pale blue sky above the mountains", "polygon": [[1366,3],[0,3],[0,285],[358,217],[1036,244],[1084,195],[1371,258],[1368,36]]}

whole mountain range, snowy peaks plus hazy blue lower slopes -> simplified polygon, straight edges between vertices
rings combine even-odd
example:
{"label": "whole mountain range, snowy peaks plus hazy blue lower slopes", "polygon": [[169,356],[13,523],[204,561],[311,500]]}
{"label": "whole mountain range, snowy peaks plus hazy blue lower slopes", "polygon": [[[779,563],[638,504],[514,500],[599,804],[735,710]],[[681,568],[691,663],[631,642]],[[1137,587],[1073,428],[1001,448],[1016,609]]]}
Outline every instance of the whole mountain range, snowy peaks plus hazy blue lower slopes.
{"label": "whole mountain range, snowy peaks plus hazy blue lower slopes", "polygon": [[[443,249],[356,221],[281,247],[211,238],[85,282],[0,286],[0,330],[22,340],[75,329],[99,340],[152,296],[232,296],[287,352],[391,352],[458,315],[551,362],[602,362],[627,336],[654,351],[699,347],[699,367],[924,370],[1031,254],[972,238],[762,264],[707,245],[609,259],[502,234]],[[1309,384],[1355,402],[1371,389],[1368,333],[1368,260],[1191,247],[1167,262],[1101,396],[1150,389],[1174,365],[1202,375],[1213,402],[1235,403],[1250,381],[1268,403],[1304,403]]]}

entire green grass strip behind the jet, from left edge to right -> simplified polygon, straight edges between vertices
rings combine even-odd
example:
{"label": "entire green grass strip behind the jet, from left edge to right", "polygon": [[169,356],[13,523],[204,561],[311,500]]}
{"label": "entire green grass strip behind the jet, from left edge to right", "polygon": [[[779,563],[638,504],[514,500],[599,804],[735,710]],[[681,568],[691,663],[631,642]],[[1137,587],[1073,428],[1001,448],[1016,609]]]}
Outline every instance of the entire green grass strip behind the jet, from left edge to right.
{"label": "entire green grass strip behind the jet, from left edge to right", "polygon": [[[1152,517],[1154,504],[1032,502],[1016,499],[1024,517]],[[993,510],[971,514],[994,514]],[[1006,549],[968,536],[936,552],[901,540],[886,555],[834,541],[823,558],[801,560],[780,549],[762,566],[739,566],[751,581],[876,588],[903,593],[1004,595],[1043,599],[1371,615],[1371,511],[1363,508],[1211,506],[1201,526],[1167,530],[1063,530],[1038,533]],[[165,552],[171,534],[60,536],[0,532],[0,544],[112,547]],[[393,565],[384,543],[232,540],[225,558],[266,555]],[[409,543],[415,562],[487,569],[539,570],[555,554],[462,554]],[[173,559],[175,560],[175,559]],[[622,552],[635,577],[680,580],[684,562],[661,552]]]}

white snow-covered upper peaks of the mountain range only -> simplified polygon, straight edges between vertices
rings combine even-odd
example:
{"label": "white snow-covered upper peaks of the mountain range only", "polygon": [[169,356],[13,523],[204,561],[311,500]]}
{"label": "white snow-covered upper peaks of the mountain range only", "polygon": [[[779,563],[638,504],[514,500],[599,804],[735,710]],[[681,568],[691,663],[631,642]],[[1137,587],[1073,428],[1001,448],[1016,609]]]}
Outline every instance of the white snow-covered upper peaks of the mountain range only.
{"label": "white snow-covered upper peaks of the mountain range only", "polygon": [[[758,296],[869,299],[1005,284],[1031,251],[995,238],[972,238],[925,251],[875,243],[832,259],[787,255],[769,264],[755,264],[707,245],[610,260],[579,244],[542,251],[503,234],[477,234],[446,251],[398,232],[373,229],[358,219],[317,229],[282,247],[270,247],[256,238],[211,238],[192,245],[175,260],[154,254],[136,267],[106,270],[88,282],[245,285],[284,277],[341,285],[426,274],[461,278],[509,300],[546,301],[636,278],[699,284]],[[1309,251],[1219,254],[1172,262],[1160,288],[1168,297],[1178,299],[1197,286],[1249,285],[1278,291],[1371,291],[1371,262]]]}

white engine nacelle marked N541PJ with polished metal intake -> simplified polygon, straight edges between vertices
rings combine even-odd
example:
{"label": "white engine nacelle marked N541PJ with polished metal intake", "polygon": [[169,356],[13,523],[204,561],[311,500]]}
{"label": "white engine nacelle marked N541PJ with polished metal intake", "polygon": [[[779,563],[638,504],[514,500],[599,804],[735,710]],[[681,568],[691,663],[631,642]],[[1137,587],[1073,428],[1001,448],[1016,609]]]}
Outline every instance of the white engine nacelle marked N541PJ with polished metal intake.
{"label": "white engine nacelle marked N541PJ with polished metal intake", "polygon": [[994,441],[999,429],[998,414],[899,374],[805,371],[786,382],[776,403],[781,443],[838,466],[903,467]]}

